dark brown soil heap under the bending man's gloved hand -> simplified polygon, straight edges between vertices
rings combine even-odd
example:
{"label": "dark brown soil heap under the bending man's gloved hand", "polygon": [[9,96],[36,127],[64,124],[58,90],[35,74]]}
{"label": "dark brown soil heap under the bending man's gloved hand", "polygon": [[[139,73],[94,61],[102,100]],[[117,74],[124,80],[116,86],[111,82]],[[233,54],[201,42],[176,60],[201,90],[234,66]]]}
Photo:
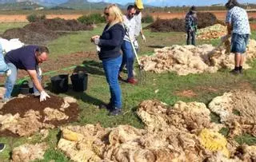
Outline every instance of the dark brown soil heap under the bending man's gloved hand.
{"label": "dark brown soil heap under the bending man's gloved hand", "polygon": [[[70,123],[73,121],[77,121],[78,119],[78,104],[76,103],[70,103],[70,106],[68,109],[65,109],[62,113],[65,113],[66,116],[69,118],[66,120],[58,121],[58,120],[52,120],[52,121],[44,121],[46,114],[43,112],[44,109],[49,107],[50,109],[57,109],[58,111],[61,108],[61,105],[64,103],[64,100],[61,97],[56,97],[50,95],[50,98],[48,98],[46,101],[40,102],[38,97],[34,96],[28,96],[28,97],[23,97],[23,98],[15,98],[9,102],[7,102],[5,105],[3,105],[2,109],[0,110],[1,115],[6,115],[10,113],[11,115],[15,115],[16,113],[20,114],[20,117],[24,117],[26,112],[29,110],[34,110],[38,111],[40,113],[40,119],[38,121],[46,124],[52,124],[55,127]],[[5,132],[0,132],[0,136],[17,136],[16,134],[10,132],[10,131],[5,131]]]}

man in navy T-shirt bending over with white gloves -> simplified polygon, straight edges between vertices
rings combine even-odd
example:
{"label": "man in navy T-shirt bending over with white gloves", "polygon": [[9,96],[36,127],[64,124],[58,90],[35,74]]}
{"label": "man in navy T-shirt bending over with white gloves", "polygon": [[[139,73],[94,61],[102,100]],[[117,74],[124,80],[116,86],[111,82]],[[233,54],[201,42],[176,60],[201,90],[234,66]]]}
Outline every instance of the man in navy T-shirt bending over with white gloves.
{"label": "man in navy T-shirt bending over with white gloves", "polygon": [[3,101],[9,101],[17,79],[18,69],[25,69],[34,83],[34,95],[40,96],[40,101],[46,101],[50,96],[41,85],[41,69],[38,67],[43,61],[47,60],[49,49],[45,46],[26,45],[19,49],[11,50],[6,53],[5,61],[11,70],[10,76],[6,79],[6,93]]}

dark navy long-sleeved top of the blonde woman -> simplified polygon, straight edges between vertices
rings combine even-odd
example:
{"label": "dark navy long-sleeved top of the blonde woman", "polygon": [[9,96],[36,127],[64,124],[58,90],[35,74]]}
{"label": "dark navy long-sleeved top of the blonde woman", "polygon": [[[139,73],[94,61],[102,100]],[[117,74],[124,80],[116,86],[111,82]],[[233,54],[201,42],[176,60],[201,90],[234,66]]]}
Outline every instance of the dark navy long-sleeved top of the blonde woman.
{"label": "dark navy long-sleeved top of the blonde woman", "polygon": [[108,27],[108,25],[105,26],[98,42],[98,46],[101,48],[98,57],[101,60],[116,58],[121,55],[120,49],[125,36],[125,29],[121,24],[115,24],[107,30]]}

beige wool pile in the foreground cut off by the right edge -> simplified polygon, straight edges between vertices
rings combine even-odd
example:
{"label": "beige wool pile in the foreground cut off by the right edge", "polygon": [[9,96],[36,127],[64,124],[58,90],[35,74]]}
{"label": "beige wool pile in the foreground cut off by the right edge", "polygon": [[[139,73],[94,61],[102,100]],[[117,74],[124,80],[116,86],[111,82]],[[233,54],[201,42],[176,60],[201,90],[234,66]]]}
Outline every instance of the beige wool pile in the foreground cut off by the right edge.
{"label": "beige wool pile in the foreground cut off by the right edge", "polygon": [[218,114],[221,122],[230,128],[230,136],[248,132],[256,136],[256,93],[235,90],[215,97],[209,104],[211,112]]}

